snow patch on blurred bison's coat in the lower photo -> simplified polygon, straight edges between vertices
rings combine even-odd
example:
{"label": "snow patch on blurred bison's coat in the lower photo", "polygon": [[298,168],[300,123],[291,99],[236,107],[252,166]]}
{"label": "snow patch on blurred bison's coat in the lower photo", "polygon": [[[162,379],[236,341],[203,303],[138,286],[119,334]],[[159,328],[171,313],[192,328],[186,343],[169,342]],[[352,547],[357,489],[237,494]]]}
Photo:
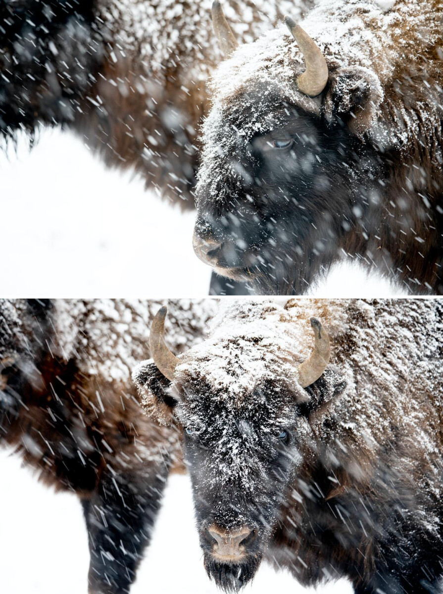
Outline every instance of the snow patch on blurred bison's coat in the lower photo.
{"label": "snow patch on blurred bison's coat in the lower photo", "polygon": [[149,333],[162,305],[170,348],[181,353],[204,336],[218,304],[214,299],[58,299],[55,301],[56,354],[74,357],[86,374],[127,383],[132,368],[149,354]]}

